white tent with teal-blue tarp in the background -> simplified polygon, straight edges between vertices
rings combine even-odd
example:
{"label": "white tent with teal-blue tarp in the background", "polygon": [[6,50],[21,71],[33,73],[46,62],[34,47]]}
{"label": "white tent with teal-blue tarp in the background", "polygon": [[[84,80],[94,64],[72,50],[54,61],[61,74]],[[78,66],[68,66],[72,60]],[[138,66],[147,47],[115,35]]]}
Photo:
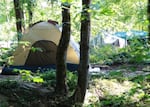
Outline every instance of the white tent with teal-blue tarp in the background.
{"label": "white tent with teal-blue tarp in the background", "polygon": [[130,30],[127,32],[102,31],[95,37],[91,38],[90,45],[91,47],[101,47],[105,44],[110,44],[113,46],[123,48],[130,43],[130,40],[133,40],[134,38],[140,40],[148,39],[147,35],[147,32],[139,30]]}

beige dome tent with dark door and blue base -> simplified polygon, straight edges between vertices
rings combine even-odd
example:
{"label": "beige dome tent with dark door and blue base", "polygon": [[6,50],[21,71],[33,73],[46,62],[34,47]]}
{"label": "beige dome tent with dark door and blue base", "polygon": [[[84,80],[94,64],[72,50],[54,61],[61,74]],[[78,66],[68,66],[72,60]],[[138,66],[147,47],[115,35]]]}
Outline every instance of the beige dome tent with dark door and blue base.
{"label": "beige dome tent with dark door and blue base", "polygon": [[[12,69],[27,69],[36,71],[43,68],[56,68],[56,52],[61,30],[51,21],[39,22],[30,27],[21,38],[16,48],[12,64],[2,70],[2,74]],[[71,37],[67,50],[67,67],[77,70],[79,63],[79,45]]]}

